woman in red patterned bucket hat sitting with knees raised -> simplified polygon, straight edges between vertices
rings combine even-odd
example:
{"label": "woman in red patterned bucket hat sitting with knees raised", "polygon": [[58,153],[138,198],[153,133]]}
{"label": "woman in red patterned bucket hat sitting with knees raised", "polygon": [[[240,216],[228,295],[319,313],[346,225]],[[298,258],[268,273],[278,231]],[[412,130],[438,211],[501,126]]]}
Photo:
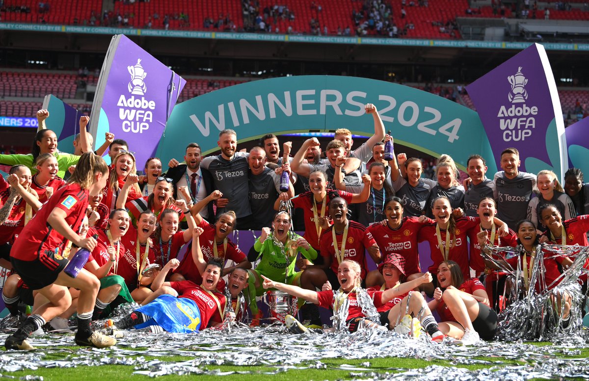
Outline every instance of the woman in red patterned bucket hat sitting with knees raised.
{"label": "woman in red patterned bucket hat sitting with knees raised", "polygon": [[[405,278],[405,258],[398,253],[389,253],[385,260],[379,263],[378,270],[385,279],[385,283],[368,290],[398,289],[401,286],[401,280]],[[421,282],[421,278],[418,278],[405,283],[405,286],[413,288],[419,286]],[[389,329],[394,328],[398,333],[409,333],[412,337],[418,337],[423,326],[432,337],[432,342],[441,343],[444,340],[444,333],[440,332],[438,323],[419,292],[409,291],[395,296],[376,310],[380,313],[380,324],[388,325]]]}

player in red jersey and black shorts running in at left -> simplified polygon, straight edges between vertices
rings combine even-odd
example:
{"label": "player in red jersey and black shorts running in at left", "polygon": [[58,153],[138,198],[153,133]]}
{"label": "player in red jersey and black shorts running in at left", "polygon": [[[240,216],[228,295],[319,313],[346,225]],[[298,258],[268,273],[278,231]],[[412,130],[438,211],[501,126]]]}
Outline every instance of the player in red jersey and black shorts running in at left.
{"label": "player in red jersey and black shorts running in at left", "polygon": [[108,347],[117,340],[92,332],[90,320],[100,288],[96,276],[81,269],[75,278],[64,272],[68,260],[64,258],[68,241],[80,248],[94,249],[96,240],[82,239],[77,231],[86,215],[89,196],[100,192],[107,182],[107,164],[92,152],[80,157],[77,168],[65,186],[48,200],[35,218],[22,230],[11,250],[12,266],[22,280],[49,300],[36,309],[15,333],[8,336],[6,349],[32,349],[28,336],[48,320],[64,312],[71,305],[68,287],[80,290],[78,299],[78,331],[75,342],[83,346]]}

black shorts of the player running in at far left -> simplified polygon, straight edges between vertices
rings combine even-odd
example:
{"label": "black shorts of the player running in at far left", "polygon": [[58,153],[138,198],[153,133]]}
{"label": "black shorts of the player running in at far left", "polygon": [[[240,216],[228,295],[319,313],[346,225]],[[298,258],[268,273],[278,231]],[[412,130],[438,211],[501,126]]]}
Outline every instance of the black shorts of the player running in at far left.
{"label": "black shorts of the player running in at far left", "polygon": [[35,260],[11,258],[11,262],[12,268],[32,290],[39,290],[54,283],[59,273],[68,264],[68,260],[62,256],[55,258],[55,253],[51,250],[40,252]]}

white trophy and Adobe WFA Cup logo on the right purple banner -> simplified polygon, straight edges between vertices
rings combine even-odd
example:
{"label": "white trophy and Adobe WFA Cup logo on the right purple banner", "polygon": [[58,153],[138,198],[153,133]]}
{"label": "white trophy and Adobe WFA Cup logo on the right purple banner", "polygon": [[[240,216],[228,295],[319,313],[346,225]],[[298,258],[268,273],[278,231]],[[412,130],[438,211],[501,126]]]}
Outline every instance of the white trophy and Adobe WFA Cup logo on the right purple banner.
{"label": "white trophy and Adobe WFA Cup logo on the right purple banner", "polygon": [[519,66],[517,73],[507,77],[507,81],[511,85],[511,90],[507,95],[511,106],[501,106],[497,114],[504,142],[524,141],[525,138],[532,136],[532,129],[536,128],[534,116],[538,115],[538,108],[525,104],[528,99],[528,92],[525,89],[528,79],[525,78],[521,70],[522,66]]}

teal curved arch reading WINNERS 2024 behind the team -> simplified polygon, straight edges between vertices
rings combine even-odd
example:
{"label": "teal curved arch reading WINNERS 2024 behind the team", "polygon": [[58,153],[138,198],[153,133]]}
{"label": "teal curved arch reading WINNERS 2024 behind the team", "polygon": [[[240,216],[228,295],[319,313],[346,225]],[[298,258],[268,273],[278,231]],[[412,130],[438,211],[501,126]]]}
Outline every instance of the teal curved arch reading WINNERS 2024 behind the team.
{"label": "teal curved arch reading WINNERS 2024 behind the team", "polygon": [[181,158],[189,142],[197,142],[203,155],[214,152],[223,129],[235,130],[238,141],[336,128],[372,135],[365,103],[376,105],[395,142],[433,156],[447,153],[462,169],[468,156],[478,153],[487,159],[489,173],[497,171],[477,112],[409,86],[349,76],[264,79],[180,103],[168,119],[157,155],[163,163]]}

